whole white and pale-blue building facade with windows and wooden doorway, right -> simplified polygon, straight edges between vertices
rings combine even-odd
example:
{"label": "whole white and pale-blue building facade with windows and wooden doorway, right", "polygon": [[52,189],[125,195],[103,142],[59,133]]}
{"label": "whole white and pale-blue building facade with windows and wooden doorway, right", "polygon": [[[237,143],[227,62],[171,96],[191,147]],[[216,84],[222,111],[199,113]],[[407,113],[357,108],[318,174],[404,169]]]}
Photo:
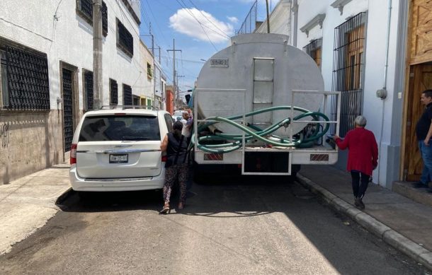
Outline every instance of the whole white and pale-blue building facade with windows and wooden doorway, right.
{"label": "whole white and pale-blue building facade with windows and wooden doorway, right", "polygon": [[[341,136],[357,115],[368,119],[380,151],[373,182],[391,189],[394,181],[417,180],[422,163],[414,130],[423,112],[421,91],[432,88],[432,4],[292,0],[290,5],[271,16],[280,17],[274,22],[290,18],[285,33],[290,44],[317,62],[326,90],[341,90]],[[346,157],[346,151],[339,153],[343,170]]]}

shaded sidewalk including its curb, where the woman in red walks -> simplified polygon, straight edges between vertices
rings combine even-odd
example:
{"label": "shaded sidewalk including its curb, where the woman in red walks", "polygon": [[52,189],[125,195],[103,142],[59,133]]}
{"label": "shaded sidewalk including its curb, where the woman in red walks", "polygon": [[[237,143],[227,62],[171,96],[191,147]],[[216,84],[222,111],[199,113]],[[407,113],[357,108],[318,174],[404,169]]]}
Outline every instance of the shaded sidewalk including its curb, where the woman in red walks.
{"label": "shaded sidewalk including its curb, where the woman in red walks", "polygon": [[331,166],[303,165],[297,180],[336,211],[432,270],[431,206],[371,184],[363,198],[366,209],[360,211],[354,206],[351,175]]}

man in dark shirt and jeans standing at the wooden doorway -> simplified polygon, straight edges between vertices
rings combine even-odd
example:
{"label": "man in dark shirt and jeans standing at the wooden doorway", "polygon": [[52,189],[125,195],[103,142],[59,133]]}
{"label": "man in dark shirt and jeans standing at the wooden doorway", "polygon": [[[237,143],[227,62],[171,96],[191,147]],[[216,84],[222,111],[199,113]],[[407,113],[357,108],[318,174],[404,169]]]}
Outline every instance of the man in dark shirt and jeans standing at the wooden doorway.
{"label": "man in dark shirt and jeans standing at the wooden doorway", "polygon": [[[416,136],[424,165],[420,181],[415,182],[413,187],[428,188],[432,175],[432,90],[424,90],[420,101],[426,108],[416,124]],[[429,189],[429,192],[432,192],[432,189]]]}

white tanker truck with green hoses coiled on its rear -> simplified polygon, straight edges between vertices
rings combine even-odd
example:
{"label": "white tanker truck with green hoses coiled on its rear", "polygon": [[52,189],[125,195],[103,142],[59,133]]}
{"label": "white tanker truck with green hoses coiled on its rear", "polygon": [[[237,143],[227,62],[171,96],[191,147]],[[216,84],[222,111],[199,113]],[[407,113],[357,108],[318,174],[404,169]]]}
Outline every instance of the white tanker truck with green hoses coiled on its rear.
{"label": "white tanker truck with green hoses coiled on its rear", "polygon": [[295,175],[300,165],[337,161],[325,140],[330,128],[339,134],[340,93],[324,91],[317,64],[288,36],[232,37],[205,62],[192,100],[198,171],[234,165],[242,175]]}

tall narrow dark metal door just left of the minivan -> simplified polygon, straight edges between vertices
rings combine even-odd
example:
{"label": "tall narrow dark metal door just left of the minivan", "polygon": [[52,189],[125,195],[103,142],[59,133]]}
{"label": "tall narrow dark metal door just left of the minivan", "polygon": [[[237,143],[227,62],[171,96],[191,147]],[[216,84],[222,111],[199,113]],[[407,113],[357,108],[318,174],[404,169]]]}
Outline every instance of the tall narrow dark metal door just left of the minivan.
{"label": "tall narrow dark metal door just left of the minivan", "polygon": [[62,70],[63,73],[63,122],[64,122],[64,151],[71,150],[74,137],[74,109],[72,101],[72,71]]}

